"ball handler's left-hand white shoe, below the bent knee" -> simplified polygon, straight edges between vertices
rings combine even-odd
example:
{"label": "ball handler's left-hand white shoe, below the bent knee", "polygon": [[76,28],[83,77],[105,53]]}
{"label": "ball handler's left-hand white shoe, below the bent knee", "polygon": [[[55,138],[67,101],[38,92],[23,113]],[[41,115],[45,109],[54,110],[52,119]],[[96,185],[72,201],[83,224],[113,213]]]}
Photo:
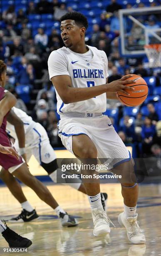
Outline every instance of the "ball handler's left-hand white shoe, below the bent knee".
{"label": "ball handler's left-hand white shoe, below the bent knee", "polygon": [[102,207],[92,210],[92,218],[94,223],[94,236],[105,236],[110,233],[109,223],[112,222],[107,217],[107,213]]}

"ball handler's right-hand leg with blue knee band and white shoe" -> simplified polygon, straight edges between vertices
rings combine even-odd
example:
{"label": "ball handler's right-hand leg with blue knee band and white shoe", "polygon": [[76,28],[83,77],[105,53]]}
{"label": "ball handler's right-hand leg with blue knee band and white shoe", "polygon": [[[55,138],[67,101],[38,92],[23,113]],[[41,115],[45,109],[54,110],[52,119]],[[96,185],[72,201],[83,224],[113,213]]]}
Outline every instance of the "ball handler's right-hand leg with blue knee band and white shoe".
{"label": "ball handler's right-hand leg with blue knee band and white shoe", "polygon": [[123,174],[120,180],[121,193],[124,198],[124,212],[118,216],[120,225],[127,230],[129,241],[135,244],[145,243],[144,233],[137,222],[136,206],[138,200],[138,184],[134,174],[133,161],[127,161],[114,168],[114,173]]}

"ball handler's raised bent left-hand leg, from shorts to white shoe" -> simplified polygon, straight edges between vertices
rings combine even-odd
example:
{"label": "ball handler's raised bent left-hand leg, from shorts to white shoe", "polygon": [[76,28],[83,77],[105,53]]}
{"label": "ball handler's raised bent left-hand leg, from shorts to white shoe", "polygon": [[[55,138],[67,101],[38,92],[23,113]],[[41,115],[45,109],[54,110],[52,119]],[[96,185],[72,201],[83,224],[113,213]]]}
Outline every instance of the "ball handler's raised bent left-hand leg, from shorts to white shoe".
{"label": "ball handler's raised bent left-hand leg, from shorts to white shoe", "polygon": [[[72,140],[72,151],[75,156],[81,159],[82,163],[85,164],[97,164],[97,148],[92,142],[91,138],[85,134],[78,136],[70,136]],[[81,171],[82,174],[96,174],[96,171],[89,171],[84,169]],[[107,214],[102,207],[101,194],[100,194],[100,184],[99,180],[91,178],[90,180],[83,180],[84,187],[87,191],[87,197],[92,209],[92,218],[94,222],[94,236],[106,235],[110,232],[109,220]]]}

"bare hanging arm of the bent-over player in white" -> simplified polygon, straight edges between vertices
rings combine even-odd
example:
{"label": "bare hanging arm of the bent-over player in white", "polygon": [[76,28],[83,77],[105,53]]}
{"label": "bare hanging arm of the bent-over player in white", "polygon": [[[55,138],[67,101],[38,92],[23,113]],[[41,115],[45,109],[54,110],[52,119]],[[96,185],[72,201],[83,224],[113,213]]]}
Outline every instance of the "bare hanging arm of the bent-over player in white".
{"label": "bare hanging arm of the bent-over player in white", "polygon": [[20,148],[25,148],[25,130],[22,120],[11,109],[7,115],[7,121],[14,125]]}

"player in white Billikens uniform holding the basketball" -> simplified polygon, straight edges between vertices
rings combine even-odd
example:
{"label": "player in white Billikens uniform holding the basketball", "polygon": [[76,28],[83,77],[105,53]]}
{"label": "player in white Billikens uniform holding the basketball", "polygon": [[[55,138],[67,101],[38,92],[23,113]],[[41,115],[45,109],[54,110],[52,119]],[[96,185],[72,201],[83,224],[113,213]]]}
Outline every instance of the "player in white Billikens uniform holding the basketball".
{"label": "player in white Billikens uniform holding the basketball", "polygon": [[[107,98],[117,99],[116,92],[125,92],[131,75],[108,84],[108,61],[104,51],[87,46],[84,41],[88,27],[87,18],[81,13],[67,13],[60,18],[61,37],[65,44],[52,51],[48,59],[50,80],[57,94],[59,136],[64,146],[83,162],[109,159],[114,172],[128,173],[133,168],[129,151],[111,125],[102,115],[106,111]],[[127,79],[127,80],[126,80]],[[126,81],[125,81],[126,80]],[[130,87],[129,90],[134,90]],[[93,160],[91,160],[93,159]],[[84,173],[84,170],[83,170]],[[87,170],[85,170],[87,173]],[[84,182],[92,209],[94,236],[110,232],[110,220],[101,204],[100,185],[94,179]],[[124,225],[132,243],[145,243],[136,214],[138,184],[121,181],[124,212],[119,223]]]}

